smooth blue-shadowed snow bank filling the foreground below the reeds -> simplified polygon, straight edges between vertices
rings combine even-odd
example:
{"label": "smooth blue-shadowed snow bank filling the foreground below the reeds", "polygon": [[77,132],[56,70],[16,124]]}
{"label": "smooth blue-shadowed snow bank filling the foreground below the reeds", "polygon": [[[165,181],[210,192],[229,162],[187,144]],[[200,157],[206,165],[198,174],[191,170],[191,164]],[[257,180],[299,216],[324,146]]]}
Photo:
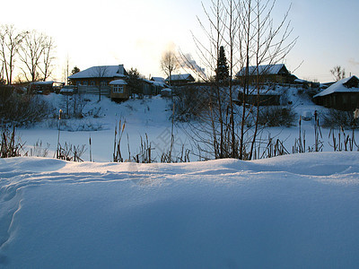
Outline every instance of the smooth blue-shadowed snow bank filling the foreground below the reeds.
{"label": "smooth blue-shadowed snow bank filling the foreground below the reeds", "polygon": [[354,268],[359,152],[0,160],[0,267]]}

